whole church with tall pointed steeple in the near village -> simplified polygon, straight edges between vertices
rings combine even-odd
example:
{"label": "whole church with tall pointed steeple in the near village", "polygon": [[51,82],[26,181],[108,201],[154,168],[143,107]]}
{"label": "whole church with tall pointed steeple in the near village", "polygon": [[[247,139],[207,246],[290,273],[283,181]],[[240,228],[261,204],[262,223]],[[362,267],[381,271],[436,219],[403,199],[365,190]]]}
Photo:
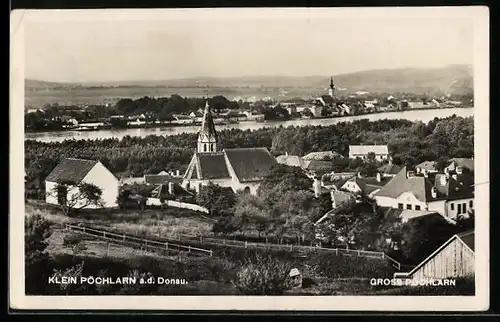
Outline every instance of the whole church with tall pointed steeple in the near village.
{"label": "whole church with tall pointed steeple in the near village", "polygon": [[197,148],[184,174],[182,186],[199,192],[202,186],[212,182],[230,187],[234,192],[243,190],[256,194],[260,182],[276,164],[276,159],[267,148],[223,149],[207,101]]}

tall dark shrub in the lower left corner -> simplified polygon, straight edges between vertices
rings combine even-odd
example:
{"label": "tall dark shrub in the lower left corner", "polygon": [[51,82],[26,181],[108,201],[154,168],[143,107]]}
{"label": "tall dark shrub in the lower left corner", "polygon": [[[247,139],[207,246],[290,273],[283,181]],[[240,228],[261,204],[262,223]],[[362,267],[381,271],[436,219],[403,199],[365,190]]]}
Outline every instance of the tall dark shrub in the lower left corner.
{"label": "tall dark shrub in the lower left corner", "polygon": [[38,214],[28,215],[24,221],[25,290],[34,295],[46,292],[50,275],[50,256],[47,238],[52,235],[51,223]]}

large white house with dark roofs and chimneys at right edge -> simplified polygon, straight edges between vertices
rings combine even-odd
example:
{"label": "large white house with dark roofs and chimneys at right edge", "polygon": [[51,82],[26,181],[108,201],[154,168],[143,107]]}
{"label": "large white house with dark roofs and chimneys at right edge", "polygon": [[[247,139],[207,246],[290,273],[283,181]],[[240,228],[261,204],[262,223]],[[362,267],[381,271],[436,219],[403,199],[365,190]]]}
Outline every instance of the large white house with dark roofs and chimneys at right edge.
{"label": "large white house with dark roofs and chimneys at right edge", "polygon": [[473,184],[474,178],[463,173],[429,175],[404,167],[374,198],[381,207],[433,211],[455,220],[474,209]]}

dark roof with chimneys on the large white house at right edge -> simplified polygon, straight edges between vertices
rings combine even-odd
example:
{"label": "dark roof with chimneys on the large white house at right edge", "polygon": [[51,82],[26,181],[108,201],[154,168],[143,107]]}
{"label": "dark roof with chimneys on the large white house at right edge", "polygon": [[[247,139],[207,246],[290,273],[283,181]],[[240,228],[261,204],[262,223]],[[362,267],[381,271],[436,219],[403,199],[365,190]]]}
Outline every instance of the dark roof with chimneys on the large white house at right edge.
{"label": "dark roof with chimneys on the large white house at right edge", "polygon": [[434,185],[437,192],[448,200],[474,198],[474,178],[469,174],[454,174],[447,178],[438,173]]}

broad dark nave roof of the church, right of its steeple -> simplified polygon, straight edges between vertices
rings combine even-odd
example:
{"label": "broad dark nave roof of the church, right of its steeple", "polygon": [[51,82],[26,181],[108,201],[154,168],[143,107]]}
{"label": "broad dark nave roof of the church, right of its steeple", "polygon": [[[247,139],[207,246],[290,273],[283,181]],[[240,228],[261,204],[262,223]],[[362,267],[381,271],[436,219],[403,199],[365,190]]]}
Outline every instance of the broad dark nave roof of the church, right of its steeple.
{"label": "broad dark nave roof of the church, right of its steeple", "polygon": [[262,180],[277,164],[267,148],[225,149],[224,153],[240,182]]}

